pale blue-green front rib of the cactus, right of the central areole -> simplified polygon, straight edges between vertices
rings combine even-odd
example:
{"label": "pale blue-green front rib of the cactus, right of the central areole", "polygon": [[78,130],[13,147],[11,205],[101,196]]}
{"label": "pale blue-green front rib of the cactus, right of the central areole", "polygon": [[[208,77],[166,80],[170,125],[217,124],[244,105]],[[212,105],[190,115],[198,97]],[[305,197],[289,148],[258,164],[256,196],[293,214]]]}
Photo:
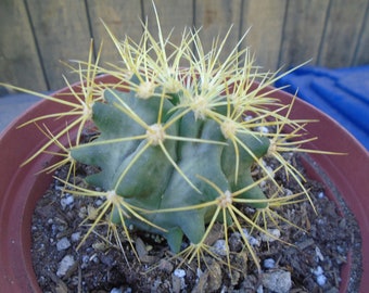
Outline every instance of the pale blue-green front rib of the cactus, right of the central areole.
{"label": "pale blue-green front rib of the cactus, right of the central areole", "polygon": [[[225,140],[214,120],[204,122],[200,132],[200,138],[202,139],[219,142]],[[217,187],[222,191],[230,190],[228,180],[221,170],[220,157],[224,148],[224,144],[183,142],[179,167],[199,191],[183,180],[178,171],[175,171],[163,194],[162,208],[195,206],[217,199],[220,194],[202,180],[201,177],[216,182]],[[180,230],[184,232],[192,243],[199,243],[204,234],[205,224],[211,220],[212,212],[214,213],[215,208],[216,206],[211,206],[184,212],[162,213],[157,214],[155,222],[169,231],[180,227]],[[175,238],[175,234],[169,237],[169,239],[173,238]],[[173,250],[178,251],[179,247],[174,247],[170,242],[169,244],[171,244]]]}

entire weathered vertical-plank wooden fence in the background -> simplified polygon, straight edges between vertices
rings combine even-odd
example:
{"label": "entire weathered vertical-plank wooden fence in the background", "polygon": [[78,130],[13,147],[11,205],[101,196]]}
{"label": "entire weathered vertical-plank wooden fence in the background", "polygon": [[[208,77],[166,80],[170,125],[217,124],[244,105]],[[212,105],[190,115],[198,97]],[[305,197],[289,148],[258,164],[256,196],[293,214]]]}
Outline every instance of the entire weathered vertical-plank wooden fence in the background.
{"label": "entire weathered vertical-plank wooden fence in the background", "polygon": [[[257,63],[275,71],[311,59],[311,65],[369,64],[369,0],[155,0],[164,34],[173,40],[187,27],[202,27],[211,44],[233,25],[226,50],[252,26],[242,47]],[[100,18],[118,38],[138,39],[139,18],[148,16],[155,35],[150,0],[0,0],[0,81],[34,90],[64,87],[60,60],[86,60],[90,39],[104,40],[103,62],[117,55]],[[96,48],[97,50],[97,48]]]}

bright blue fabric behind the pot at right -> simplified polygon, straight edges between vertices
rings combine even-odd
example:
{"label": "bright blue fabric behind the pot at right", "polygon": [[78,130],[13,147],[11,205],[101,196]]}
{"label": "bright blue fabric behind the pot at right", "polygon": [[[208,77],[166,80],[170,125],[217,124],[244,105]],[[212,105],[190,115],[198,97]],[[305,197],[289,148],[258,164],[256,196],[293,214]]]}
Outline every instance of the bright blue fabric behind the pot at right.
{"label": "bright blue fabric behind the pot at right", "polygon": [[281,77],[277,87],[318,107],[369,150],[369,66],[328,69],[305,66]]}

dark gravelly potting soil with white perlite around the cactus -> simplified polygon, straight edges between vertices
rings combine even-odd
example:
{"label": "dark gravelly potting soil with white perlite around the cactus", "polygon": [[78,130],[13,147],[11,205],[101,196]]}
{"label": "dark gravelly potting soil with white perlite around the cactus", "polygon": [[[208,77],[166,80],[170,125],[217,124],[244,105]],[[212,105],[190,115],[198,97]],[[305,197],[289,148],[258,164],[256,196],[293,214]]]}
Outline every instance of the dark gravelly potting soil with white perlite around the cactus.
{"label": "dark gravelly potting soil with white perlite around the cactus", "polygon": [[[304,173],[298,156],[293,155],[290,162]],[[55,175],[64,178],[66,169],[61,168]],[[86,173],[89,169],[80,165],[75,180],[84,182]],[[300,192],[296,182],[291,178],[288,180],[282,171],[278,171],[275,179],[283,182],[285,190]],[[266,183],[264,188],[270,186]],[[131,231],[138,260],[122,230],[117,231],[122,247],[114,238],[102,237],[107,233],[104,225],[97,227],[77,250],[89,228],[89,222],[81,222],[86,215],[93,214],[102,200],[63,193],[62,183],[54,180],[37,203],[33,217],[33,263],[39,285],[42,292],[56,293],[339,292],[340,270],[347,256],[359,255],[358,226],[348,211],[343,214],[338,211],[321,183],[307,179],[304,186],[310,190],[316,212],[309,201],[278,208],[280,215],[304,230],[285,222],[275,227],[271,224],[270,232],[280,233],[281,241],[265,239],[254,231],[250,243],[253,241],[260,259],[260,272],[242,250],[238,233],[230,232],[231,264],[236,267],[230,275],[224,256],[205,256],[200,268],[195,260],[181,264],[162,238]],[[252,216],[255,211],[245,208],[243,213]],[[250,228],[246,224],[244,227]],[[221,233],[214,231],[212,237],[214,246],[222,243]],[[62,271],[61,264],[67,260],[71,265]],[[359,267],[360,260],[357,262]],[[349,292],[358,290],[355,282],[358,278],[358,275],[352,276],[354,282]]]}

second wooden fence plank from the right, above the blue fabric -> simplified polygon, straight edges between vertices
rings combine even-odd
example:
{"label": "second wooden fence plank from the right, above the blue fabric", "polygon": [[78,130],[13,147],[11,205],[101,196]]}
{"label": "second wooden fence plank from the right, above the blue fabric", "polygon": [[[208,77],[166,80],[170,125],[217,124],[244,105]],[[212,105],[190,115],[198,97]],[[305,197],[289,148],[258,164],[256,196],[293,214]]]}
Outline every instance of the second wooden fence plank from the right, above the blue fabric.
{"label": "second wooden fence plank from the right, above the blue fabric", "polygon": [[331,0],[319,65],[349,66],[355,54],[368,0]]}

